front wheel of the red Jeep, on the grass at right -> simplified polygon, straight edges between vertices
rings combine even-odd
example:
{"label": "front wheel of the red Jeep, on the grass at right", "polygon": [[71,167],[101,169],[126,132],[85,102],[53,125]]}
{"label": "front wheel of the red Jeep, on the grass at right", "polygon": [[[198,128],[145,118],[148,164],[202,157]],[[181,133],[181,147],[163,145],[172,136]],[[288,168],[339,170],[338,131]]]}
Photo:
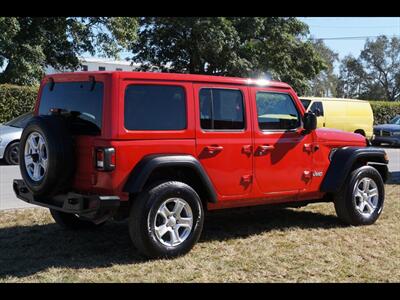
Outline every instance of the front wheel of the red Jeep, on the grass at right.
{"label": "front wheel of the red Jeep, on the grass at right", "polygon": [[342,190],[335,195],[338,217],[350,225],[369,225],[379,218],[385,199],[385,187],[379,172],[370,166],[350,174]]}

